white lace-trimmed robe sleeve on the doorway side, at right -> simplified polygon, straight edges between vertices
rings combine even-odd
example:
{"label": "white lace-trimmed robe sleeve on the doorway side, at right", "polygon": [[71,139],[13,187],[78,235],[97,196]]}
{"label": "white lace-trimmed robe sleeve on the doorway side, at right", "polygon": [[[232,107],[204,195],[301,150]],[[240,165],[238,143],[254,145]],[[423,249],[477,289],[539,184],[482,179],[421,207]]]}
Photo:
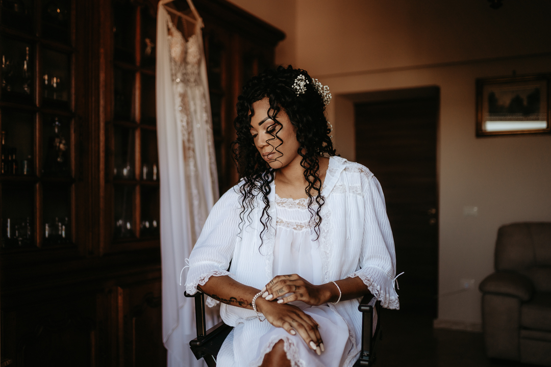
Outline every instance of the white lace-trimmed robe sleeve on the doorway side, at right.
{"label": "white lace-trimmed robe sleeve on the doorway side, at right", "polygon": [[364,234],[360,253],[360,270],[349,277],[360,277],[384,308],[399,309],[395,291],[396,251],[386,214],[385,197],[379,180],[369,171],[361,173],[364,196]]}

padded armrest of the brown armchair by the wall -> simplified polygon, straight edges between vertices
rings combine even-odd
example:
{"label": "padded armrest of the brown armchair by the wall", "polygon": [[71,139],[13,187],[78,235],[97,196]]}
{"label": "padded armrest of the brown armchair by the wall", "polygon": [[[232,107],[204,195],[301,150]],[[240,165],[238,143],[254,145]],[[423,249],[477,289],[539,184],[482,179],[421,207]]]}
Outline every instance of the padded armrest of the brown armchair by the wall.
{"label": "padded armrest of the brown armchair by the wall", "polygon": [[480,286],[480,292],[498,293],[520,298],[526,302],[532,298],[532,281],[520,273],[498,271],[487,276]]}

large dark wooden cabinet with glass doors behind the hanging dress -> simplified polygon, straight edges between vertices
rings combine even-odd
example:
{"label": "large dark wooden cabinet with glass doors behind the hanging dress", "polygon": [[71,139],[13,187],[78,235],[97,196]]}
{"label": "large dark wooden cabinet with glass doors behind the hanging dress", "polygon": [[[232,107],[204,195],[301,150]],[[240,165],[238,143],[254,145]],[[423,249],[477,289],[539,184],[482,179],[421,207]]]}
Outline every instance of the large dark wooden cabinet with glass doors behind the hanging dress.
{"label": "large dark wooden cabinet with glass doors behind the hanging dress", "polygon": [[[166,365],[157,2],[0,2],[2,366]],[[222,0],[196,7],[223,192],[237,96],[284,34]]]}

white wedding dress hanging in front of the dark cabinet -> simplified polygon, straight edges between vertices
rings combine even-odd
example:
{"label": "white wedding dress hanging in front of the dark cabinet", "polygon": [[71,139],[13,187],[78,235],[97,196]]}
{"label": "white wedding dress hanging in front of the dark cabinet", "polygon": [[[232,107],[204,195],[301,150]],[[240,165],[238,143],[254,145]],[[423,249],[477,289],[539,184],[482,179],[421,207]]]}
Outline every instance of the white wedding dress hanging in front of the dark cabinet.
{"label": "white wedding dress hanging in front of the dark cabinet", "polygon": [[[160,178],[160,235],[161,258],[163,271],[163,343],[168,349],[168,366],[203,366],[197,361],[189,348],[189,342],[196,337],[195,307],[192,298],[183,295],[185,287],[179,285],[180,270],[186,265],[193,244],[197,239],[197,228],[202,228],[208,211],[218,200],[218,184],[214,165],[214,147],[212,146],[212,118],[208,96],[207,68],[202,50],[201,29],[197,27],[196,36],[201,51],[198,63],[198,78],[195,95],[203,95],[202,115],[193,113],[188,117],[193,129],[193,144],[186,146],[190,139],[182,139],[182,134],[189,134],[186,121],[182,122],[181,97],[176,90],[174,65],[171,70],[168,22],[169,14],[162,4],[157,12],[156,39],[156,116],[159,146]],[[198,32],[198,35],[197,35]],[[172,40],[174,41],[174,40]],[[186,45],[182,45],[186,47]],[[180,79],[178,79],[180,83]],[[179,85],[181,87],[181,85]],[[186,96],[197,98],[193,96]],[[179,106],[180,104],[180,106]],[[180,107],[179,109],[177,109]],[[193,108],[193,106],[191,106]],[[206,111],[206,113],[204,112]],[[192,111],[193,112],[193,111]],[[203,121],[194,121],[203,116]],[[196,128],[197,127],[197,128]],[[187,132],[183,131],[186,130]],[[209,135],[210,134],[210,135]],[[186,135],[187,136],[187,135]],[[187,141],[187,143],[186,143]],[[193,162],[188,155],[193,152]],[[209,162],[212,163],[209,165]],[[190,167],[193,172],[190,173]],[[193,179],[190,182],[191,178]],[[197,195],[198,194],[198,195]],[[199,205],[195,201],[198,196]],[[194,205],[195,204],[195,205]],[[199,211],[199,212],[198,212]],[[199,223],[197,221],[199,220]],[[183,274],[182,284],[185,283]],[[217,315],[207,315],[207,324],[217,321]]]}

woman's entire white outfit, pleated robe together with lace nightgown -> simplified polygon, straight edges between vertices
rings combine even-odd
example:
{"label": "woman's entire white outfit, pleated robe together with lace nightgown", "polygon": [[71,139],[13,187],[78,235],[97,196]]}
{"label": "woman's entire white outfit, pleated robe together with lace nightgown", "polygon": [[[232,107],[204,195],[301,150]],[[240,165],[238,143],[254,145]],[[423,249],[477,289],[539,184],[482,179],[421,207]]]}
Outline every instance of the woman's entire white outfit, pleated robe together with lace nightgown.
{"label": "woman's entire white outfit, pleated robe together with lace nightgown", "polygon": [[[257,195],[250,211],[243,213],[242,184],[226,192],[209,214],[190,255],[185,284],[188,294],[197,292],[197,286],[211,276],[227,275],[256,289],[262,289],[274,276],[288,273],[298,273],[314,284],[359,277],[383,307],[399,308],[392,231],[381,186],[368,168],[341,157],[329,158],[317,241],[305,205],[300,200],[277,199],[273,181],[267,194],[271,202],[267,227],[261,220],[263,195]],[[295,366],[352,367],[363,332],[359,300],[303,305],[321,325],[322,358],[300,336],[258,321],[253,310],[222,304],[220,316],[234,328],[218,353],[218,366],[258,366],[264,354],[283,339]],[[215,303],[207,298],[207,305]]]}

